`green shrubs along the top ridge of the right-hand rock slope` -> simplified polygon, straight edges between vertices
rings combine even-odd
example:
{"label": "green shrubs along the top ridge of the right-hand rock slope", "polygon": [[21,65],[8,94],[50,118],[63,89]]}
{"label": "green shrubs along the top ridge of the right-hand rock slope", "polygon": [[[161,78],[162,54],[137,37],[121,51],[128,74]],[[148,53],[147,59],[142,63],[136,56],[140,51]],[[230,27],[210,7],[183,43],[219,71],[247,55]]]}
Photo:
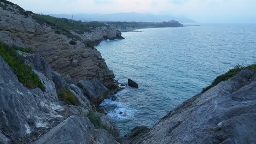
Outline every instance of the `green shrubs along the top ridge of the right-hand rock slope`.
{"label": "green shrubs along the top ridge of the right-hand rock slope", "polygon": [[230,79],[231,77],[238,74],[241,70],[245,70],[245,69],[256,70],[256,64],[252,64],[252,65],[249,65],[247,67],[242,67],[241,65],[236,65],[236,67],[234,69],[230,69],[228,71],[228,73],[225,73],[223,75],[219,75],[218,77],[216,77],[216,79],[212,82],[212,84],[210,86],[207,86],[206,88],[203,88],[201,93],[204,93],[208,89],[218,85],[218,83],[220,83],[221,81],[226,81],[226,80]]}

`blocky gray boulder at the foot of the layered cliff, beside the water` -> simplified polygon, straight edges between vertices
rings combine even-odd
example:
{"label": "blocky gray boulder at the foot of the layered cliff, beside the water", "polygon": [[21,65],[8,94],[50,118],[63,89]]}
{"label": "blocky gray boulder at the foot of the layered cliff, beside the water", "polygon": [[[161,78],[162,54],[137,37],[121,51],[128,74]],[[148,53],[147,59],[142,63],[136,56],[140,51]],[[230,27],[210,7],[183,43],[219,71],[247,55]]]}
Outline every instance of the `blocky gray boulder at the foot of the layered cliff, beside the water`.
{"label": "blocky gray boulder at the foot of the layered cliff, beside the water", "polygon": [[79,81],[79,87],[94,104],[100,104],[104,98],[109,97],[109,91],[97,79]]}

